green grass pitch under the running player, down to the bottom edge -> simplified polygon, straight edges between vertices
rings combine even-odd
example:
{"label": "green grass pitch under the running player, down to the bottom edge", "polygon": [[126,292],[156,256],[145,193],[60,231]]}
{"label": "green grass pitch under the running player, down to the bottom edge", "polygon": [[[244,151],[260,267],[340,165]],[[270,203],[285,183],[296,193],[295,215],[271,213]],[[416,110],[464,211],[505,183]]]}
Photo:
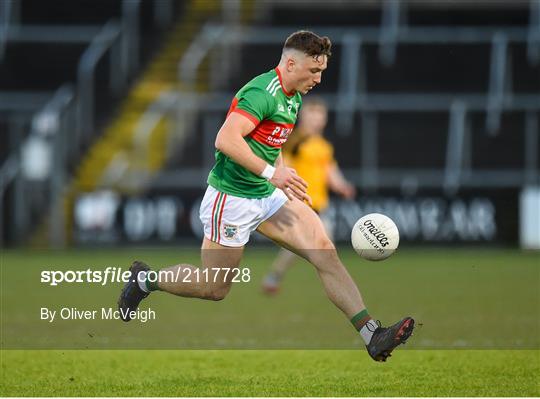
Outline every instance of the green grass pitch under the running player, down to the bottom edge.
{"label": "green grass pitch under the running player, down to the bottom edge", "polygon": [[125,324],[40,320],[40,306],[114,306],[121,286],[49,287],[41,270],[196,263],[196,250],[5,251],[0,395],[540,396],[537,253],[409,250],[368,263],[341,251],[375,317],[422,324],[387,363],[369,358],[304,262],[263,296],[275,253],[249,249],[252,281],[222,302],[152,294],[157,320]]}

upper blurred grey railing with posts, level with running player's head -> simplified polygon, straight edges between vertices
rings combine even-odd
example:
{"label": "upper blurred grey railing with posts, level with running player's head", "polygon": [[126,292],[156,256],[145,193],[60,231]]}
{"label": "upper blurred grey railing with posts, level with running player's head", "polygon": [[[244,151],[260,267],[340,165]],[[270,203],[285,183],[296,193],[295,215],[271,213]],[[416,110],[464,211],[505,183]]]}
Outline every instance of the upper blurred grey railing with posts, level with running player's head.
{"label": "upper blurred grey railing with posts, level with running player's head", "polygon": [[[395,17],[391,19],[391,21],[395,20]],[[294,30],[294,27],[224,29],[221,25],[208,23],[179,62],[179,80],[188,88],[194,87],[198,69],[204,59],[217,46],[231,43],[279,45]],[[338,100],[340,102],[338,126],[340,132],[346,135],[350,133],[353,124],[350,104],[366,94],[363,86],[363,82],[366,81],[365,68],[363,67],[363,46],[382,44],[380,52],[386,54],[383,58],[390,62],[394,59],[394,55],[390,53],[395,51],[396,44],[393,43],[395,38],[390,40],[383,28],[320,27],[314,28],[314,30],[330,36],[332,41],[341,45],[343,49],[341,59],[338,61],[342,71],[338,87],[338,91],[342,93]],[[536,32],[534,29],[533,31]],[[491,44],[491,60],[490,64],[486,65],[490,68],[488,92],[490,107],[486,117],[486,125],[491,132],[496,132],[500,124],[500,103],[506,95],[505,91],[509,84],[508,46],[510,43],[531,41],[531,37],[534,35],[531,35],[530,32],[531,29],[527,28],[404,27],[399,32],[399,39],[395,40],[398,40],[397,43],[400,44]],[[391,47],[385,50],[384,46]],[[528,46],[528,59],[531,63],[534,61],[535,48],[533,45]]]}

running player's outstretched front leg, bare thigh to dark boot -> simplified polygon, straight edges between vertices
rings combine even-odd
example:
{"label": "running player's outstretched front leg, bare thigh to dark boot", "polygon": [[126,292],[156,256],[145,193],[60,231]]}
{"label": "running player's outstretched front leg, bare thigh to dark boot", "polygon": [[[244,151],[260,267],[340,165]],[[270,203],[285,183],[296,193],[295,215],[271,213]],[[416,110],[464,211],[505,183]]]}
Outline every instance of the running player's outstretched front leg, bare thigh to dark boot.
{"label": "running player's outstretched front leg, bare thigh to dark boot", "polygon": [[411,317],[384,328],[369,316],[321,220],[306,204],[296,199],[288,201],[258,230],[315,266],[327,296],[360,332],[374,360],[385,361],[392,350],[412,334],[414,320]]}

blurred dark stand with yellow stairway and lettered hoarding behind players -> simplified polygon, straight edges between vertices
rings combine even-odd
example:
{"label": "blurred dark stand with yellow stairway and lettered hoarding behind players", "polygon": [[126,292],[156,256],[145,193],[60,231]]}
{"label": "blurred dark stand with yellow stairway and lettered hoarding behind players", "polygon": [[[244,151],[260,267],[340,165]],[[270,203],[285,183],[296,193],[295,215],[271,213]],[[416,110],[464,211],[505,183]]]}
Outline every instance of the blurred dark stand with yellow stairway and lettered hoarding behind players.
{"label": "blurred dark stand with yellow stairway and lettered hoarding behind players", "polygon": [[540,248],[540,0],[0,0],[3,246],[178,244],[235,92],[314,30],[314,95],[358,217],[402,240]]}

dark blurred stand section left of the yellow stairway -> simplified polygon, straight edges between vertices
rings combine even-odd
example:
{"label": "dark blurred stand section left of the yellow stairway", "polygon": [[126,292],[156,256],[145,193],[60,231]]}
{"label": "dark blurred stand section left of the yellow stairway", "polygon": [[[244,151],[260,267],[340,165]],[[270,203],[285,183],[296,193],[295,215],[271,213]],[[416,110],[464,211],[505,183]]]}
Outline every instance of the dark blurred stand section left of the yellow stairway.
{"label": "dark blurred stand section left of the yellow stairway", "polygon": [[[58,202],[67,176],[183,12],[180,1],[2,2],[0,202],[7,242],[23,241]],[[24,154],[50,159],[51,172],[28,176]],[[42,201],[30,204],[25,198],[36,190]]]}

